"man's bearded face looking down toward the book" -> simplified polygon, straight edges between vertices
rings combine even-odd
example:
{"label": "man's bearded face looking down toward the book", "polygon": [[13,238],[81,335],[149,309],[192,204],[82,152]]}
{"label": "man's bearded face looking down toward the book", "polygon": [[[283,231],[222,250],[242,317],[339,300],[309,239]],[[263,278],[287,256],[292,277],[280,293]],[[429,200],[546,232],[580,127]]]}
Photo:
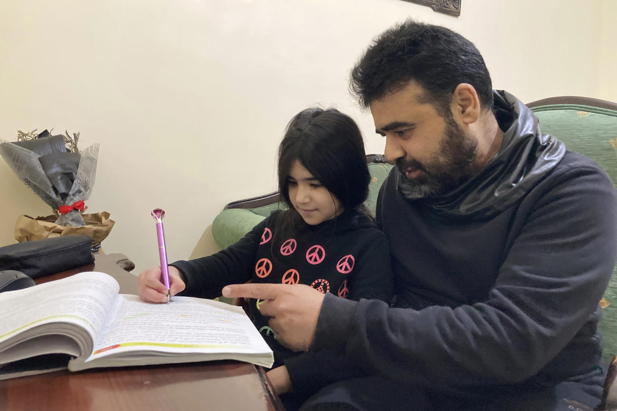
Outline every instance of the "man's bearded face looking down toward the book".
{"label": "man's bearded face looking down toward the book", "polygon": [[415,82],[371,103],[375,131],[386,137],[384,156],[423,196],[440,195],[476,173],[478,142],[466,135],[450,108],[446,118],[421,103]]}

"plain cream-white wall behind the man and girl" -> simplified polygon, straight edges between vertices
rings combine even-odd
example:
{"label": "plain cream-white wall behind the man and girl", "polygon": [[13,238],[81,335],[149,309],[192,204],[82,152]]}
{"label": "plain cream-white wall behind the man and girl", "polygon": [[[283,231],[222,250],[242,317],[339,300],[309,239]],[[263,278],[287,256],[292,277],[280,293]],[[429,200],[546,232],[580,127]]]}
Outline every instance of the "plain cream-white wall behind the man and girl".
{"label": "plain cream-white wall behind the man and girl", "polygon": [[[600,68],[615,63],[611,44],[598,42],[615,38],[616,14],[611,0],[465,0],[459,18],[400,0],[4,1],[0,138],[54,128],[80,131],[81,149],[101,143],[88,211],[109,211],[116,226],[103,248],[139,272],[157,264],[152,208],[167,211],[173,261],[208,243],[225,203],[275,190],[276,147],[302,108],[350,113],[367,152],[382,152],[347,76],[392,23],[412,16],[459,31],[494,86],[524,102],[617,100],[612,71]],[[0,245],[14,242],[19,214],[51,214],[4,161],[0,193]]]}

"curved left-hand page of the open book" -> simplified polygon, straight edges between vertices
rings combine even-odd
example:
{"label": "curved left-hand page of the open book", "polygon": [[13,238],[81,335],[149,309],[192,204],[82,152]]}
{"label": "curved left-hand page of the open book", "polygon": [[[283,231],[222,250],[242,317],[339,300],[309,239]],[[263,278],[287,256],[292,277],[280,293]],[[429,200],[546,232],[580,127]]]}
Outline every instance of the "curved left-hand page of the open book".
{"label": "curved left-hand page of the open book", "polygon": [[82,272],[35,287],[0,293],[0,345],[30,328],[78,325],[96,341],[120,286],[102,272]]}

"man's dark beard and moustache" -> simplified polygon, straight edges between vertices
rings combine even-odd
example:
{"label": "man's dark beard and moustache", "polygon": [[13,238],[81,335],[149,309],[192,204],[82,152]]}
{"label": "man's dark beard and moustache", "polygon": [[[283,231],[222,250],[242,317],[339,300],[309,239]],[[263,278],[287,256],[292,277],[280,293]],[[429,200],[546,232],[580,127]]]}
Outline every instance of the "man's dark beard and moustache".
{"label": "man's dark beard and moustache", "polygon": [[[398,158],[396,165],[407,180],[407,187],[419,197],[443,195],[457,188],[478,170],[475,160],[478,142],[465,135],[465,131],[454,121],[452,116],[445,118],[445,138],[439,146],[439,152],[429,161],[420,163]],[[405,169],[424,171],[415,179],[407,179]]]}

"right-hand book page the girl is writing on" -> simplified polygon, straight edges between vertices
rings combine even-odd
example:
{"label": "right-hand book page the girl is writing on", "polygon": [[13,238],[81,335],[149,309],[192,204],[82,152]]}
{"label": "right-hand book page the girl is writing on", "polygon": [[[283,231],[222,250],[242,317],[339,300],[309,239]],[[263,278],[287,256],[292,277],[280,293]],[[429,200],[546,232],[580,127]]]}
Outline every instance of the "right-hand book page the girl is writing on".
{"label": "right-hand book page the girl is writing on", "polygon": [[271,352],[241,307],[177,296],[170,304],[151,304],[118,295],[86,362],[130,351]]}

